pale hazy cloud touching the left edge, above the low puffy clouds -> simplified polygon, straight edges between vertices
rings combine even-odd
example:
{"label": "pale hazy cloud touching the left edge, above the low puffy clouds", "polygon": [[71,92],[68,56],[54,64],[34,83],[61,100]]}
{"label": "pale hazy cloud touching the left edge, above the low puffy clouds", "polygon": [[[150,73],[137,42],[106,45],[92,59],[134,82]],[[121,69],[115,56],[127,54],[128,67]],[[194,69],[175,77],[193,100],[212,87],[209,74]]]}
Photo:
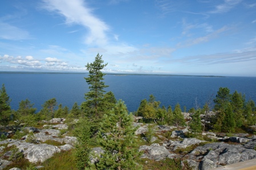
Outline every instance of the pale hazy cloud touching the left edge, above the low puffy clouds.
{"label": "pale hazy cloud touching the left edge, above the low puffy clouds", "polygon": [[25,40],[29,38],[29,32],[21,30],[11,24],[0,22],[0,39]]}

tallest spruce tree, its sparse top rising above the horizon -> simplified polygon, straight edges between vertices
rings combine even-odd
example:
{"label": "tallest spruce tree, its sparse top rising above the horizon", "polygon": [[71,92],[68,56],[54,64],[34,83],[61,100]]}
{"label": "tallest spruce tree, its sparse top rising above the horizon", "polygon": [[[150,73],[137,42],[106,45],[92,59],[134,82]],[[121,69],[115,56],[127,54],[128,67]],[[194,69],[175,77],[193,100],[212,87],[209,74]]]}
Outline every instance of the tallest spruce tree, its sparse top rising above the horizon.
{"label": "tallest spruce tree, its sparse top rising above the horizon", "polygon": [[82,103],[82,109],[86,111],[88,116],[93,119],[101,119],[104,111],[104,89],[108,86],[105,85],[101,70],[107,66],[103,64],[102,56],[99,54],[95,57],[93,63],[87,63],[86,69],[89,71],[88,77],[85,77],[87,84],[89,84],[89,92],[85,93],[86,101]]}

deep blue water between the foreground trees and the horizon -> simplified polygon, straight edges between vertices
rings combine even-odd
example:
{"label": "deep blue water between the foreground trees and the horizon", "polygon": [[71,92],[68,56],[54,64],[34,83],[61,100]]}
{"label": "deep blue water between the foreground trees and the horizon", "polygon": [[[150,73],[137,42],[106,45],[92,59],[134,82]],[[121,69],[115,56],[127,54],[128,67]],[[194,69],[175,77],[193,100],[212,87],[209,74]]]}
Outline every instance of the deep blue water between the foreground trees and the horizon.
{"label": "deep blue water between the foreground trees and the horizon", "polygon": [[[0,73],[0,84],[5,84],[7,94],[11,98],[11,108],[17,110],[19,102],[28,98],[34,107],[50,98],[56,98],[58,104],[71,109],[74,102],[81,104],[88,85],[84,79],[86,74],[27,74]],[[138,109],[142,99],[153,94],[161,105],[174,106],[179,103],[187,107],[195,107],[195,101],[203,106],[207,100],[216,96],[219,87],[227,87],[246,95],[246,99],[256,101],[256,77],[197,77],[197,76],[157,76],[157,75],[106,75],[105,84],[115,98],[125,101],[129,111]]]}

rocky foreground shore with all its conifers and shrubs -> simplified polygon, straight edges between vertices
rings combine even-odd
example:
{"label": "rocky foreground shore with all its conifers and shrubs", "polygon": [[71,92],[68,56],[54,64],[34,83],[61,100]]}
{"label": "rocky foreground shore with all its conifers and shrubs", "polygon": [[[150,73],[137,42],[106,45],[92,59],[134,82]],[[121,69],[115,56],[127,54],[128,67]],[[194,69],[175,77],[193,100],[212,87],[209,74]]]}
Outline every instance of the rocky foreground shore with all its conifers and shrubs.
{"label": "rocky foreground shore with all its conifers and shrubs", "polygon": [[129,113],[105,91],[106,65],[99,54],[86,65],[89,92],[71,109],[51,98],[39,111],[29,99],[12,110],[3,84],[0,167],[206,170],[256,158],[256,106],[244,94],[220,87],[188,109],[161,106],[151,94]]}

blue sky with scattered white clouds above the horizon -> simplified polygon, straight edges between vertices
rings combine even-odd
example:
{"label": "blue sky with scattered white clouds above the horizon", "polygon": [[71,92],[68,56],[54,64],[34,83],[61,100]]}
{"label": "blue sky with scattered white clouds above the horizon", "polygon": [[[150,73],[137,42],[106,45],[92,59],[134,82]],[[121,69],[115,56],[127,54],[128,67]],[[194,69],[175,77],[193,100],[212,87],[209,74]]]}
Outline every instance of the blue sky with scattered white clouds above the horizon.
{"label": "blue sky with scattered white clouds above the horizon", "polygon": [[256,2],[2,0],[0,71],[256,76]]}

